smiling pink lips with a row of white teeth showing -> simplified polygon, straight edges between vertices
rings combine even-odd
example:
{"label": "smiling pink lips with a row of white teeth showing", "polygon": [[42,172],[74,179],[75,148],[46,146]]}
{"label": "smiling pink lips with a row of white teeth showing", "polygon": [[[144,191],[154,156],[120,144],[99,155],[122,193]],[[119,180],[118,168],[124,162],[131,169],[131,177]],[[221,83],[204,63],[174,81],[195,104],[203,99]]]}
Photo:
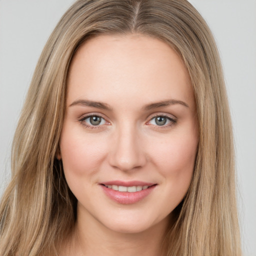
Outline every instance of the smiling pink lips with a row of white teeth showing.
{"label": "smiling pink lips with a row of white teeth showing", "polygon": [[139,181],[109,181],[100,183],[100,185],[110,199],[122,204],[131,204],[142,200],[156,186],[153,183]]}

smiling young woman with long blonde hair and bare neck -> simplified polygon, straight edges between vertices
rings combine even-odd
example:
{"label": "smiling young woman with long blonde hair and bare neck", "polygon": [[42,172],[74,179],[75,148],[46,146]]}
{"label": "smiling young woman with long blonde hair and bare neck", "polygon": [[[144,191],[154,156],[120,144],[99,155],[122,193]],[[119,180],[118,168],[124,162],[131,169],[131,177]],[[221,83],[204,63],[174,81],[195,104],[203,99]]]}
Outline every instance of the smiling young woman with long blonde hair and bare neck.
{"label": "smiling young woman with long blonde hair and bare neck", "polygon": [[185,0],[78,0],[36,66],[1,255],[240,255],[212,35]]}

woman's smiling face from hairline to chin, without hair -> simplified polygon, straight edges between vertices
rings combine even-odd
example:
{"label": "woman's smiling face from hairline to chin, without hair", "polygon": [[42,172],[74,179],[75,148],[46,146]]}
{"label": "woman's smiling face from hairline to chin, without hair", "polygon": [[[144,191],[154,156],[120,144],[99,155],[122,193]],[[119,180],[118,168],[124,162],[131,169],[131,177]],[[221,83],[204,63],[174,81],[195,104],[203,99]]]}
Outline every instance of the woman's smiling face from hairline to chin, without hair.
{"label": "woman's smiling face from hairline to chin, without hair", "polygon": [[140,232],[167,221],[189,187],[195,100],[179,56],[142,35],[101,35],[68,72],[60,153],[78,221]]}

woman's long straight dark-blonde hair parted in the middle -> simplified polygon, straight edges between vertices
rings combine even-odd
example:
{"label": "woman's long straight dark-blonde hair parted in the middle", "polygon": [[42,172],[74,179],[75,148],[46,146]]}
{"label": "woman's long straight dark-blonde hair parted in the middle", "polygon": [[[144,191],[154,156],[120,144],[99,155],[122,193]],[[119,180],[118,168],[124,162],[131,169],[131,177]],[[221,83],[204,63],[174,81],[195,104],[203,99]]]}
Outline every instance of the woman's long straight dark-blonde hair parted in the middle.
{"label": "woman's long straight dark-blonde hair parted in the middle", "polygon": [[76,219],[76,198],[55,159],[70,60],[84,40],[139,33],[168,43],[189,72],[199,144],[192,181],[165,243],[167,255],[238,256],[231,120],[213,36],[186,0],[78,0],[36,65],[12,145],[12,179],[0,204],[0,255],[57,255]]}

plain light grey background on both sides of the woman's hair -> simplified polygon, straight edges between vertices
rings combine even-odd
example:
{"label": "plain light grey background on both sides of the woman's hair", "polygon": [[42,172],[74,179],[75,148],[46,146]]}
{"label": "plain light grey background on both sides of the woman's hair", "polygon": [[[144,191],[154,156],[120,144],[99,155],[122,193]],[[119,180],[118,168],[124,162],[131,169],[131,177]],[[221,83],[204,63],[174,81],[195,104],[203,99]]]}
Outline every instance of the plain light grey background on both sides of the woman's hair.
{"label": "plain light grey background on both sides of the woman's hair", "polygon": [[[0,194],[13,132],[50,32],[73,0],[0,0]],[[236,146],[245,256],[256,256],[256,0],[190,0],[219,47]]]}

